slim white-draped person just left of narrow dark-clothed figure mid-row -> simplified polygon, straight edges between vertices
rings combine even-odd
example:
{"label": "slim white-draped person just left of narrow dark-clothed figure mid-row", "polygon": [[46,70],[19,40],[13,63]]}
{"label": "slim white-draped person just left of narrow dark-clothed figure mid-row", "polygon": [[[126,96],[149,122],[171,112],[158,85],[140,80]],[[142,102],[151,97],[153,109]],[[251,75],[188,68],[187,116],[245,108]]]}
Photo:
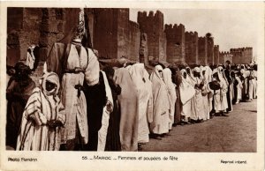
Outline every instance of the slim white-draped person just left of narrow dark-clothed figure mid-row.
{"label": "slim white-draped person just left of narrow dark-clothed figure mid-row", "polygon": [[167,85],[170,100],[169,130],[172,130],[175,115],[175,103],[177,100],[176,85],[173,84],[169,68],[163,69],[163,81]]}

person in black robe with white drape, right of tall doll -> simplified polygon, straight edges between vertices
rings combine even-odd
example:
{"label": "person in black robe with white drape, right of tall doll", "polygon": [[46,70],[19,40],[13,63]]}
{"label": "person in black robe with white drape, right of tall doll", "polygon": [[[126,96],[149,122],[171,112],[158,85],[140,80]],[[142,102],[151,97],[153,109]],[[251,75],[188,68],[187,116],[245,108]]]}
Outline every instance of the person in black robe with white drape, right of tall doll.
{"label": "person in black robe with white drape, right of tall doll", "polygon": [[104,151],[110,112],[113,100],[110,85],[105,73],[100,71],[99,83],[87,85],[84,83],[84,93],[87,100],[88,144],[85,150]]}

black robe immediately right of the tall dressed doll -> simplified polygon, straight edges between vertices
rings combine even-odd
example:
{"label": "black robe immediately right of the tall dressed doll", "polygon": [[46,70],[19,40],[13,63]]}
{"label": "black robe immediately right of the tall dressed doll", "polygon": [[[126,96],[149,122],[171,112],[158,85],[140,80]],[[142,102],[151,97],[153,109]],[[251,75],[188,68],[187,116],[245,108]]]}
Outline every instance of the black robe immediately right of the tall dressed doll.
{"label": "black robe immediately right of the tall dressed doll", "polygon": [[87,99],[88,144],[87,151],[97,151],[98,131],[102,128],[103,108],[107,103],[106,90],[102,72],[99,84],[89,86],[84,82],[84,93]]}

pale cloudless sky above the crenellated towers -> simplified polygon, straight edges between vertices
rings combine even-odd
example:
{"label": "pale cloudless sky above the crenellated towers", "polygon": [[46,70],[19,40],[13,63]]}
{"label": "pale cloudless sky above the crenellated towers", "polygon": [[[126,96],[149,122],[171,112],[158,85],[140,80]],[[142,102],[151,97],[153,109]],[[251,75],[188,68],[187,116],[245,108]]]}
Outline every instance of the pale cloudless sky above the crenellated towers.
{"label": "pale cloudless sky above the crenellated towers", "polygon": [[[137,21],[138,11],[155,11],[158,9],[130,9],[130,19]],[[159,9],[163,12],[164,24],[180,23],[186,31],[196,31],[199,36],[212,33],[220,51],[229,51],[230,48],[253,47],[254,56],[257,55],[258,36],[257,28],[261,21],[254,10],[235,9]]]}

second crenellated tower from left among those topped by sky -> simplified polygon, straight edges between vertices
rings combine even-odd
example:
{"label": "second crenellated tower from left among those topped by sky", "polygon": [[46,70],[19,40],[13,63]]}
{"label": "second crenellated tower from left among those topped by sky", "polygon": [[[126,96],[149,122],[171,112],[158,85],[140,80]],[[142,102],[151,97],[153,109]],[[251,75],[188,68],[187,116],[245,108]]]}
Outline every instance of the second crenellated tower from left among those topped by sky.
{"label": "second crenellated tower from left among those topped by sky", "polygon": [[169,63],[185,63],[185,26],[165,25],[167,39],[167,61]]}

